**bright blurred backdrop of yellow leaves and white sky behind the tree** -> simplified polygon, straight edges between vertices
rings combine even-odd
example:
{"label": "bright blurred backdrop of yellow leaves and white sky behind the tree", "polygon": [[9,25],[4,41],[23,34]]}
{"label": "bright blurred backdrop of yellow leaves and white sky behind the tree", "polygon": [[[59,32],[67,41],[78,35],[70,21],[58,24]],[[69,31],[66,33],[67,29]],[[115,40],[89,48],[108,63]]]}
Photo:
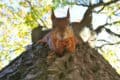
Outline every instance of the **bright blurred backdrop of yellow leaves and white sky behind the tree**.
{"label": "bright blurred backdrop of yellow leaves and white sky behind the tree", "polygon": [[[0,70],[32,44],[31,31],[38,26],[51,28],[51,8],[56,17],[65,17],[70,9],[70,21],[80,22],[91,4],[107,3],[112,0],[0,0]],[[104,25],[115,34],[120,35],[120,1],[99,6],[92,13],[92,27]],[[111,23],[110,25],[107,25]],[[83,40],[90,37],[90,30],[81,32]],[[120,38],[102,29],[96,40],[90,42],[104,58],[120,73]],[[109,44],[108,44],[109,43]]]}

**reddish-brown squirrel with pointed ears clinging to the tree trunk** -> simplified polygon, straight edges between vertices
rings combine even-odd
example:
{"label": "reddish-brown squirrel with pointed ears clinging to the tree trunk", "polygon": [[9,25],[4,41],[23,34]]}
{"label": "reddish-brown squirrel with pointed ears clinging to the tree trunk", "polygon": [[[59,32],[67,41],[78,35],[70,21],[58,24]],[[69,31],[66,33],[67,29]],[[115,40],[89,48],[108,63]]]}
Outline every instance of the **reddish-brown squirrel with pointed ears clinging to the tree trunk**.
{"label": "reddish-brown squirrel with pointed ears clinging to the tree trunk", "polygon": [[49,48],[59,56],[62,56],[64,51],[72,53],[76,48],[77,40],[72,28],[69,26],[69,18],[69,9],[67,17],[64,18],[56,18],[52,9],[51,20],[53,29],[38,41],[39,43],[47,43]]}

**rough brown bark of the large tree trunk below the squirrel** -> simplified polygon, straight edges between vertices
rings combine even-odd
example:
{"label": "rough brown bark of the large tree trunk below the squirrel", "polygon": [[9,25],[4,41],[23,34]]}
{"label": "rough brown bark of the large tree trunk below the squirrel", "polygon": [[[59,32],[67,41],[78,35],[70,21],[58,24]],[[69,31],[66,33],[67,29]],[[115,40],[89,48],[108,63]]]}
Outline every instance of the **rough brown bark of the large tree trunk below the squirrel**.
{"label": "rough brown bark of the large tree trunk below the squirrel", "polygon": [[87,43],[75,53],[52,55],[38,45],[23,52],[0,72],[0,80],[120,80],[115,69]]}

